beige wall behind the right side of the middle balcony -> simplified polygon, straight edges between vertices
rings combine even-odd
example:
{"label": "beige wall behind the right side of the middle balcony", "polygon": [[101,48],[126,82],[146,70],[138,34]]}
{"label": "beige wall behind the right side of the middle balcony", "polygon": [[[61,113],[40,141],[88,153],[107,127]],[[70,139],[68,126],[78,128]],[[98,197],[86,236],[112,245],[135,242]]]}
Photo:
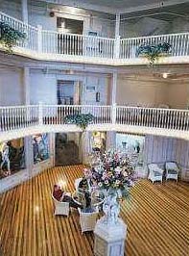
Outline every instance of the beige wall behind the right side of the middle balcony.
{"label": "beige wall behind the right side of the middle balcony", "polygon": [[189,106],[189,82],[172,80],[141,80],[118,77],[116,102],[118,105],[186,109]]}

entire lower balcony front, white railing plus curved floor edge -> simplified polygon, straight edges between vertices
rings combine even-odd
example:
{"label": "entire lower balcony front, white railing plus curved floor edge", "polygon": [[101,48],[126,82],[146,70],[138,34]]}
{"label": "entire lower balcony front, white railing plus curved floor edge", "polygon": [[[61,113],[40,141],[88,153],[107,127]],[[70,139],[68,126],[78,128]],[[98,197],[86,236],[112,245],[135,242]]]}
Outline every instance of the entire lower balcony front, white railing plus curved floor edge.
{"label": "entire lower balcony front, white railing plus curved floor edge", "polygon": [[119,131],[189,140],[189,111],[125,106],[32,105],[0,108],[0,141],[36,133],[81,132],[66,115],[92,114],[87,131]]}

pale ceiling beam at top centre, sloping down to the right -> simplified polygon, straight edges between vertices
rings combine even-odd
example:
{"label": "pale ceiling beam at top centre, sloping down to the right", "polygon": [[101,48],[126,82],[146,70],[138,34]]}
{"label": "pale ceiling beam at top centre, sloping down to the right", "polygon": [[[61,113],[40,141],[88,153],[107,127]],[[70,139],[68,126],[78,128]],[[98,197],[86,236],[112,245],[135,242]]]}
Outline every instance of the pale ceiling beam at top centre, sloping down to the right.
{"label": "pale ceiling beam at top centre, sloping down to the right", "polygon": [[51,3],[51,4],[56,4],[56,5],[81,8],[84,10],[96,11],[96,12],[101,12],[101,13],[112,13],[112,14],[116,13],[115,8],[110,8],[110,7],[101,6],[101,5],[87,4],[87,3],[83,3],[83,2],[77,1],[77,0],[76,1],[74,1],[74,0],[40,0],[40,1]]}

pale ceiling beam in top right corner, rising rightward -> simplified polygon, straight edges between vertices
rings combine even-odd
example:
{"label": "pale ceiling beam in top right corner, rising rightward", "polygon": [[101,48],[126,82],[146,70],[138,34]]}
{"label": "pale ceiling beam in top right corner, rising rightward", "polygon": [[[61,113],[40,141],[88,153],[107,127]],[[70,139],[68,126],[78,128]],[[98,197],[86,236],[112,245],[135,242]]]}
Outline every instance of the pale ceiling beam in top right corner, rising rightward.
{"label": "pale ceiling beam in top right corner, rising rightward", "polygon": [[[162,4],[163,3],[163,4]],[[155,8],[164,8],[164,7],[171,7],[178,4],[185,4],[189,3],[189,0],[169,0],[169,1],[159,1],[159,3],[156,4],[150,4],[150,5],[142,5],[137,7],[130,7],[122,10],[119,10],[120,13],[134,13],[134,12],[140,12],[140,11],[147,11],[147,10],[153,10]]]}

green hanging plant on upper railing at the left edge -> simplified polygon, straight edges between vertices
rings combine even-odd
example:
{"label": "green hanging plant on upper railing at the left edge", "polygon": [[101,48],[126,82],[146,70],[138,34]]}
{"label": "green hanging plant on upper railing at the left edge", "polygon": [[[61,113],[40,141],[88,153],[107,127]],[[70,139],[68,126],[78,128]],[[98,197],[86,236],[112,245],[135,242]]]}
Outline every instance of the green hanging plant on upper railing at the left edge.
{"label": "green hanging plant on upper railing at the left edge", "polygon": [[5,47],[7,53],[12,54],[12,47],[25,38],[26,33],[15,30],[9,24],[0,21],[0,43]]}

